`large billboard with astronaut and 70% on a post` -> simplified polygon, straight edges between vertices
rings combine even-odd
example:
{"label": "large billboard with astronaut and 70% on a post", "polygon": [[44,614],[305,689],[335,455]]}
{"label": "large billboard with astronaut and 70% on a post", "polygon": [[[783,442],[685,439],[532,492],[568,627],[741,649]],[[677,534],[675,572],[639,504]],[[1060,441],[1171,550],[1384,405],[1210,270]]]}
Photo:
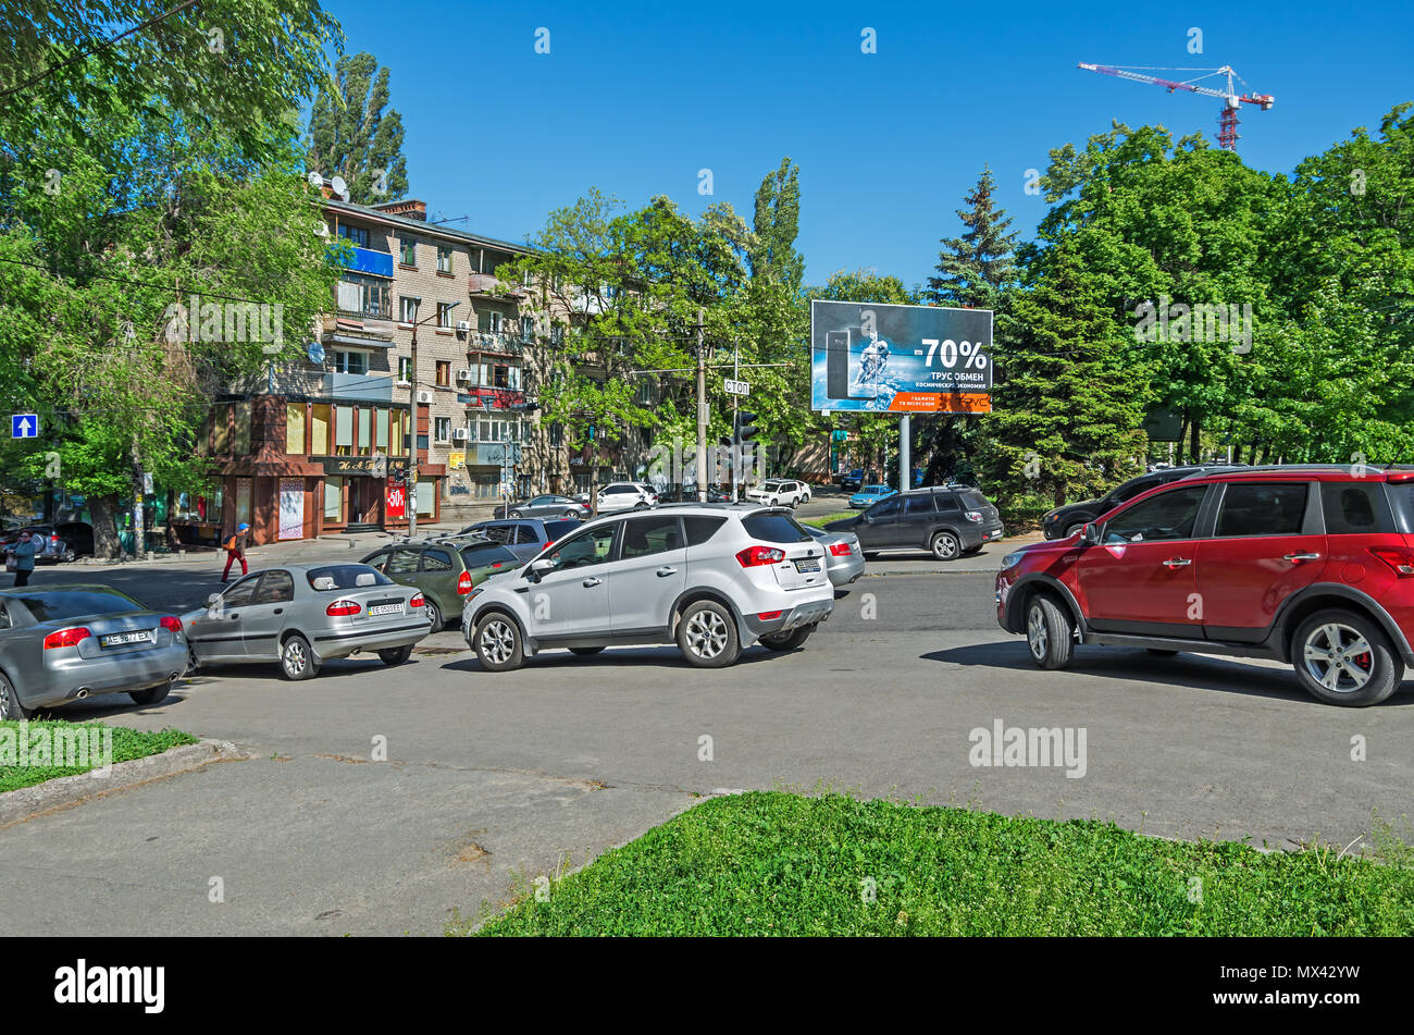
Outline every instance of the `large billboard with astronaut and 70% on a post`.
{"label": "large billboard with astronaut and 70% on a post", "polygon": [[991,310],[810,300],[810,409],[991,410]]}

